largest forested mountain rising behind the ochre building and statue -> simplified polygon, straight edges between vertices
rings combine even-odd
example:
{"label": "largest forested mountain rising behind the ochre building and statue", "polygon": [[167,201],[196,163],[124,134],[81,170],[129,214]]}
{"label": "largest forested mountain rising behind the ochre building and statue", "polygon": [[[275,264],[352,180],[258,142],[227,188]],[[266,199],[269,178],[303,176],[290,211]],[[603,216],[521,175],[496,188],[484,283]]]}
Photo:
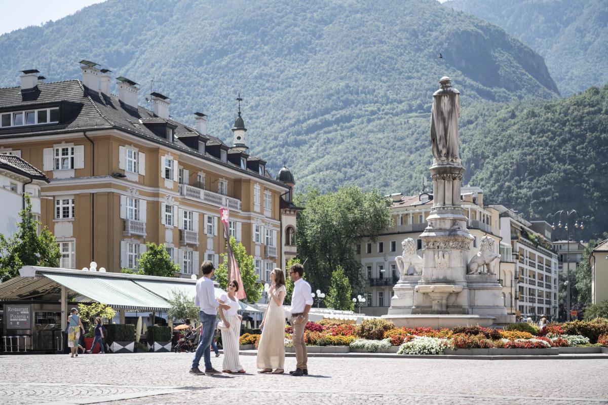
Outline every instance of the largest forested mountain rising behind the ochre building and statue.
{"label": "largest forested mountain rising behind the ochre building and statue", "polygon": [[141,83],[140,104],[152,88],[179,120],[205,112],[230,145],[240,91],[250,152],[299,189],[418,188],[443,75],[465,106],[558,97],[530,47],[435,0],[109,0],[0,36],[0,55],[0,86],[95,61]]}

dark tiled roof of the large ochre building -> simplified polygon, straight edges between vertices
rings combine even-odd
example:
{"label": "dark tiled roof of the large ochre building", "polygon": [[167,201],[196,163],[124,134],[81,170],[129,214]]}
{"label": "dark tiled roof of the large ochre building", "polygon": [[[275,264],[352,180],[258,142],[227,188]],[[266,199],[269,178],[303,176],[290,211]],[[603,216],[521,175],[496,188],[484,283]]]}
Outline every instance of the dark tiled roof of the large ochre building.
{"label": "dark tiled roof of the large ochre building", "polygon": [[[57,81],[53,83],[39,83],[34,89],[22,92],[20,87],[8,87],[0,89],[0,110],[15,109],[23,107],[35,107],[38,105],[62,104],[65,110],[71,112],[72,117],[60,124],[22,126],[0,129],[0,139],[15,137],[35,137],[39,135],[65,134],[66,132],[94,131],[99,129],[119,129],[129,132],[141,138],[146,138],[155,143],[178,149],[182,152],[206,158],[220,165],[228,166],[235,171],[247,172],[254,177],[262,177],[264,180],[284,186],[282,182],[260,175],[256,172],[243,170],[230,162],[223,162],[210,154],[199,154],[198,151],[188,148],[179,140],[180,134],[199,134],[195,129],[173,118],[161,118],[147,108],[138,106],[137,109],[126,106],[116,95],[106,95],[98,91],[92,91],[85,87],[80,80]],[[63,112],[62,112],[63,115]],[[145,124],[169,123],[175,126],[174,134],[177,137],[173,142],[154,134]],[[208,146],[220,145],[229,148],[217,137],[207,134],[199,134],[205,138]]]}

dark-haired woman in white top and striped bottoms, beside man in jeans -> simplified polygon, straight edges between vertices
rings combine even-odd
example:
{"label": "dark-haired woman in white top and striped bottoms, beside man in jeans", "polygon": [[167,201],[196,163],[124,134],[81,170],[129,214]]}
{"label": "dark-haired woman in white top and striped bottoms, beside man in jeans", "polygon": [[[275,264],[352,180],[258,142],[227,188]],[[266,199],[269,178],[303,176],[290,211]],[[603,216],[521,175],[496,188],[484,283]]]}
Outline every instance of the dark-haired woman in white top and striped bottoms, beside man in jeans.
{"label": "dark-haired woman in white top and striped bottoms, beside man in jeans", "polygon": [[236,280],[228,284],[228,294],[224,294],[219,302],[230,306],[229,310],[220,309],[219,317],[223,325],[219,326],[222,333],[222,346],[224,347],[224,373],[244,373],[241,362],[238,361],[238,339],[241,335],[241,316],[237,314],[240,305],[235,294],[238,291]]}

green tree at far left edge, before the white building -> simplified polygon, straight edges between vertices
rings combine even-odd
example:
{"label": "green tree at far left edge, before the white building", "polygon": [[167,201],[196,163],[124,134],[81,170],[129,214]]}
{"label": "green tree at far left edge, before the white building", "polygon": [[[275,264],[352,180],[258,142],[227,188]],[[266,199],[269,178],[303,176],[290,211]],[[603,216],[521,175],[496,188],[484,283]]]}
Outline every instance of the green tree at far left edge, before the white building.
{"label": "green tree at far left edge, before the white building", "polygon": [[12,238],[0,234],[0,278],[2,281],[15,277],[23,266],[59,267],[61,251],[46,226],[38,235],[40,221],[32,214],[32,200],[24,194],[26,208],[19,212],[21,222]]}

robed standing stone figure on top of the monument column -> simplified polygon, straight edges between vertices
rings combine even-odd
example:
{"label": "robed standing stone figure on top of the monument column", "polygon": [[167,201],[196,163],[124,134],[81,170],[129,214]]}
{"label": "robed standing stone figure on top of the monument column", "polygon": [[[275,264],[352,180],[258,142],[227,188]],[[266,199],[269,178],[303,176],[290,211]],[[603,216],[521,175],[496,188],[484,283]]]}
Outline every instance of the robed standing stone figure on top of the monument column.
{"label": "robed standing stone figure on top of the monument column", "polygon": [[441,162],[458,162],[458,117],[460,92],[452,87],[452,80],[444,76],[441,89],[433,94],[430,112],[430,141],[433,156]]}

